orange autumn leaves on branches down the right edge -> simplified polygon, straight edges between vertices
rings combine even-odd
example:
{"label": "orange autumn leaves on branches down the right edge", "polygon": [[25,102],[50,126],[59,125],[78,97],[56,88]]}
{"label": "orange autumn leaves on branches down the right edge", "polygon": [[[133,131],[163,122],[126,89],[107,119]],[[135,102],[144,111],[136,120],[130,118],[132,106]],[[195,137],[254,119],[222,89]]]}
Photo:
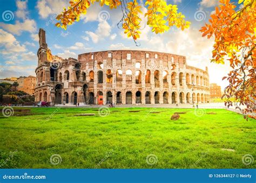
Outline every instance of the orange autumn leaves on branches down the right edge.
{"label": "orange autumn leaves on branches down the right edge", "polygon": [[246,61],[253,63],[255,53],[255,0],[239,0],[243,3],[240,10],[235,11],[234,3],[230,0],[220,0],[219,7],[211,15],[209,24],[201,27],[202,36],[214,37],[214,50],[212,62],[224,64],[224,60],[230,62],[233,69],[223,80],[228,80],[230,85],[225,88],[223,97],[227,98],[225,105],[232,106],[231,97],[235,101],[245,105],[246,109],[237,109],[244,114],[253,112],[255,107],[255,64],[246,65]]}

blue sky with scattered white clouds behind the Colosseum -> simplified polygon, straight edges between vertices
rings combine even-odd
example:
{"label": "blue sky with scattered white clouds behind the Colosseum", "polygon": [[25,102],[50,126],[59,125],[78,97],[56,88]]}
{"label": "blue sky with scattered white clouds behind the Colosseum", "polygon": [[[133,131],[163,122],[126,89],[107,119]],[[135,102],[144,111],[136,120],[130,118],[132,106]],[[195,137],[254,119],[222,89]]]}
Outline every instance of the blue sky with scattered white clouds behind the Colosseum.
{"label": "blue sky with scattered white clouds behind the Colosseum", "polygon": [[[208,67],[210,82],[224,87],[221,81],[229,71],[228,64],[211,64],[213,40],[201,37],[199,29],[210,18],[218,5],[217,0],[170,0],[191,22],[190,29],[181,31],[172,27],[163,34],[154,34],[145,25],[136,46],[126,38],[117,23],[122,17],[120,9],[110,10],[96,2],[80,22],[62,30],[55,27],[55,16],[69,4],[65,0],[0,0],[0,78],[35,75],[37,67],[38,30],[46,31],[46,41],[53,55],[77,58],[80,53],[103,50],[150,50],[184,55],[188,65]],[[140,1],[143,3],[143,1]],[[143,8],[145,11],[145,8]],[[100,18],[103,17],[103,18]]]}

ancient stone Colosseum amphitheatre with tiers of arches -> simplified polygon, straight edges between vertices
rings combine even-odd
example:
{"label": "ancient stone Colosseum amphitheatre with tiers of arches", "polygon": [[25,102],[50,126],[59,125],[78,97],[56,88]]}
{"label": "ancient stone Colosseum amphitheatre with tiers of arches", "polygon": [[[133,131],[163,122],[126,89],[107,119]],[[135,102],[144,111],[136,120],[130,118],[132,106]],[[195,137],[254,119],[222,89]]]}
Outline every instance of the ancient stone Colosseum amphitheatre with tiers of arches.
{"label": "ancient stone Colosseum amphitheatre with tiers of arches", "polygon": [[209,102],[209,76],[186,57],[151,51],[53,56],[39,30],[36,101],[69,104],[171,104]]}

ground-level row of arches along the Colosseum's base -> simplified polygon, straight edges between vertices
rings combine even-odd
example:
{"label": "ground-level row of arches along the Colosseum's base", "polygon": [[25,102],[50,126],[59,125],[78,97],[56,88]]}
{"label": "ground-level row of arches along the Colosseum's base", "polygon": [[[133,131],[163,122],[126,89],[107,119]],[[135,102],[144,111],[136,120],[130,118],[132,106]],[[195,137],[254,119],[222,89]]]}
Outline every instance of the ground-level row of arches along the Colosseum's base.
{"label": "ground-level row of arches along the Colosseum's base", "polygon": [[[180,93],[176,93],[173,91],[169,93],[168,91],[164,91],[160,93],[159,91],[136,91],[136,93],[132,93],[132,91],[126,91],[125,95],[122,95],[121,91],[116,92],[116,96],[113,97],[112,91],[107,91],[105,96],[102,91],[98,91],[97,94],[93,93],[93,91],[88,90],[87,85],[83,86],[82,93],[79,94],[77,91],[73,91],[71,94],[68,92],[62,93],[62,85],[56,85],[55,87],[55,99],[53,100],[55,104],[60,103],[70,103],[76,104],[78,102],[84,104],[108,104],[108,103],[117,103],[117,104],[132,104],[134,103],[145,103],[145,104],[169,104],[169,103],[196,103],[196,102],[208,102],[209,96],[207,94],[195,94],[195,93],[186,93],[183,91]],[[143,97],[144,95],[144,97]],[[105,102],[104,102],[105,97]],[[122,100],[124,97],[124,100]],[[134,97],[134,98],[133,98]],[[39,101],[48,101],[48,93],[41,92],[39,93]],[[144,101],[142,101],[144,100]]]}

